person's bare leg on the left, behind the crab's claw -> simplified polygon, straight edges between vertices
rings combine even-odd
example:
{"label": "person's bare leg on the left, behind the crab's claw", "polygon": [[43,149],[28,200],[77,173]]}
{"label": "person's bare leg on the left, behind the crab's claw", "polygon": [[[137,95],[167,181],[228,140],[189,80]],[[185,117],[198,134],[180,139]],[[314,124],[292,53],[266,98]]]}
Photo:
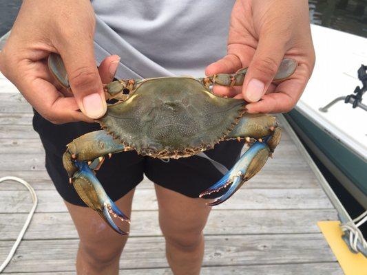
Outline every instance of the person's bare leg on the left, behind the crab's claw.
{"label": "person's bare leg on the left, behind the crab's claw", "polygon": [[[118,208],[127,215],[130,215],[132,210],[133,196],[134,190],[131,190],[127,195],[116,201]],[[94,210],[87,207],[74,206],[66,201],[65,204],[80,237],[78,255],[76,257],[77,274],[117,275],[118,262],[127,241],[127,236],[114,232]],[[128,223],[120,222],[119,226],[125,232],[129,231]]]}

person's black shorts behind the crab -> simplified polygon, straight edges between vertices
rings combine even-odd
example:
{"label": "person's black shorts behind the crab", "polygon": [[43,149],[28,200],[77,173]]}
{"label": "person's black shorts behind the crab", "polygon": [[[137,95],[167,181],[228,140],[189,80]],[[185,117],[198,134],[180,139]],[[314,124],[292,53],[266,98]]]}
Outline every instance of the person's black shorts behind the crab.
{"label": "person's black shorts behind the crab", "polygon": [[[69,184],[62,156],[66,144],[85,133],[100,130],[99,124],[73,122],[56,125],[34,111],[33,128],[41,137],[45,148],[45,166],[56,190],[65,201],[85,206],[72,184]],[[233,140],[220,142],[205,153],[230,169],[240,157],[243,145],[242,142]],[[116,153],[111,159],[107,157],[96,175],[109,197],[116,201],[135,188],[143,180],[144,174],[155,184],[192,198],[197,198],[200,192],[223,176],[203,157],[183,157],[163,162],[160,159],[143,157],[135,151]]]}

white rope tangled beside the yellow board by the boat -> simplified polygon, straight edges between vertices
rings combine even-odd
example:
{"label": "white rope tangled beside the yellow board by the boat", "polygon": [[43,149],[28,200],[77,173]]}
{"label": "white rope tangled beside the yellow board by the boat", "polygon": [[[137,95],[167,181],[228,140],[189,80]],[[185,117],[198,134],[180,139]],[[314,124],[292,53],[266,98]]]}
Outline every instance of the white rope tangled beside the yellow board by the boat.
{"label": "white rope tangled beside the yellow board by the boat", "polygon": [[364,224],[367,221],[367,211],[362,213],[359,217],[353,219],[353,221],[348,221],[347,223],[343,223],[340,225],[340,228],[343,230],[343,232],[349,231],[349,243],[350,248],[353,249],[354,252],[358,253],[359,250],[357,248],[358,241],[361,242],[362,248],[365,250],[367,249],[367,242],[364,239],[364,236],[359,230],[359,226]]}

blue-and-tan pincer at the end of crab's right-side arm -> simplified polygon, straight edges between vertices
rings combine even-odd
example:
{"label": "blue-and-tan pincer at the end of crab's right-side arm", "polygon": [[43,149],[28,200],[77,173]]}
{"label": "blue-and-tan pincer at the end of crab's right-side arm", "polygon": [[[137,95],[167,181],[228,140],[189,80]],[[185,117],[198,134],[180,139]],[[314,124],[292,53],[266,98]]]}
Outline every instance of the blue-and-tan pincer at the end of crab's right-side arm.
{"label": "blue-and-tan pincer at the end of crab's right-side arm", "polygon": [[227,201],[244,182],[248,181],[258,173],[269,157],[270,149],[266,142],[255,142],[236,162],[236,164],[222,177],[216,184],[202,192],[199,197],[205,197],[213,192],[218,192],[222,188],[230,186],[227,192],[219,199],[208,203],[208,206],[216,206]]}

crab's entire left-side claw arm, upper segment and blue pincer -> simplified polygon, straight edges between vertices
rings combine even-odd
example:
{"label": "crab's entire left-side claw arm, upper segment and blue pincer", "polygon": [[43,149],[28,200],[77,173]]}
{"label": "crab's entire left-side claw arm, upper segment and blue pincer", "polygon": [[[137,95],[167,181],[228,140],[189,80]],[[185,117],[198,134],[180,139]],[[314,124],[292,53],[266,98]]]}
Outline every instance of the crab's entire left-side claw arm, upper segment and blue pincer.
{"label": "crab's entire left-side claw arm, upper segment and blue pincer", "polygon": [[[94,175],[105,155],[125,151],[123,145],[114,141],[105,131],[95,131],[76,138],[67,145],[63,155],[63,164],[74,185],[76,192],[85,204],[98,212],[101,218],[116,232],[126,235],[114,223],[112,216],[121,221],[129,222],[129,218],[121,212],[114,201],[110,199],[103,186]],[[88,161],[91,164],[88,165]]]}

